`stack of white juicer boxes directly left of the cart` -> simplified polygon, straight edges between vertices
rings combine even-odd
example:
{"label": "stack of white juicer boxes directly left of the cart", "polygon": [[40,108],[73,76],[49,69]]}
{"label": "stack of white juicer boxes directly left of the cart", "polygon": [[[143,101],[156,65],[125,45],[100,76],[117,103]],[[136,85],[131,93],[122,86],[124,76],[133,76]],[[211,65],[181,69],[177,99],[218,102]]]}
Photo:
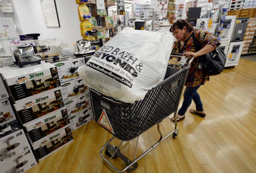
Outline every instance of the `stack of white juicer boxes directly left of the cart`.
{"label": "stack of white juicer boxes directly left of the cart", "polygon": [[67,56],[55,62],[47,62],[51,62],[58,70],[60,91],[66,107],[65,115],[68,115],[73,131],[93,119],[89,88],[77,72],[77,68],[85,65],[85,59]]}

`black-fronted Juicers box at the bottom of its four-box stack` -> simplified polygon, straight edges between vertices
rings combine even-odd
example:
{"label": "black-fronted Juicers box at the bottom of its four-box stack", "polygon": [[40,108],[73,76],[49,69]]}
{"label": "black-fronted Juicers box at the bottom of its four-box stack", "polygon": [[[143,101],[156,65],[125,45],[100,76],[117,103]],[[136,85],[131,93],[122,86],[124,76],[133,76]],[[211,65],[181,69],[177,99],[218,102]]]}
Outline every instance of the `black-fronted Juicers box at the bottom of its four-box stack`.
{"label": "black-fronted Juicers box at the bottom of its four-box stack", "polygon": [[70,125],[36,141],[32,147],[39,161],[73,141]]}

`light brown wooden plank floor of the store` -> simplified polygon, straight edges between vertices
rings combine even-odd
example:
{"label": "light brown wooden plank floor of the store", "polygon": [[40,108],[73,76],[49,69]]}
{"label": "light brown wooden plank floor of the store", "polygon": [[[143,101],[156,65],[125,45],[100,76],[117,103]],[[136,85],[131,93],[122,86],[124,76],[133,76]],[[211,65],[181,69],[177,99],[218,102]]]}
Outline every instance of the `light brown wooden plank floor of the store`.
{"label": "light brown wooden plank floor of the store", "polygon": [[[206,117],[187,112],[185,120],[178,123],[178,137],[170,136],[139,160],[136,173],[256,172],[256,62],[241,59],[239,66],[211,77],[198,92]],[[190,108],[194,108],[194,103]],[[173,128],[167,119],[161,124],[165,134]],[[73,137],[73,143],[27,172],[114,172],[99,155],[111,134],[93,120],[75,130]],[[138,154],[158,137],[156,126],[142,134]],[[132,159],[135,145],[135,140],[129,141],[121,152]],[[114,159],[114,164],[124,166],[119,159]]]}

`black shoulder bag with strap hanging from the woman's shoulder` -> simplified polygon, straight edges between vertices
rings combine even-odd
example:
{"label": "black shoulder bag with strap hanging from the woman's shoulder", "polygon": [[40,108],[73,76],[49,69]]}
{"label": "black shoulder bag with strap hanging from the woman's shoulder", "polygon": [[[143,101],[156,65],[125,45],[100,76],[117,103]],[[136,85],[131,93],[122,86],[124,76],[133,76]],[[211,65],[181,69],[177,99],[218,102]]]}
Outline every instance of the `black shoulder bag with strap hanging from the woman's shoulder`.
{"label": "black shoulder bag with strap hanging from the woman's shoulder", "polygon": [[[202,45],[197,41],[194,32],[192,32],[192,38],[196,50],[202,49]],[[209,76],[218,75],[224,70],[226,63],[225,53],[217,47],[212,52],[206,53],[205,55],[199,56],[199,62],[202,64],[202,68],[205,70],[206,74]]]}

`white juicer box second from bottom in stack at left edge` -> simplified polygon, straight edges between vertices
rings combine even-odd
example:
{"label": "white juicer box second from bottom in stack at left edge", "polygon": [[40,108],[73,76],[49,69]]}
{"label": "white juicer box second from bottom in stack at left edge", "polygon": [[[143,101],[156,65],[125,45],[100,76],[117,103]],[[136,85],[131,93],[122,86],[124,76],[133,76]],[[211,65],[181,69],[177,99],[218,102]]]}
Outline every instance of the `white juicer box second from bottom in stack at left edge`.
{"label": "white juicer box second from bottom in stack at left edge", "polygon": [[0,164],[29,148],[29,141],[22,129],[2,137],[0,139]]}

